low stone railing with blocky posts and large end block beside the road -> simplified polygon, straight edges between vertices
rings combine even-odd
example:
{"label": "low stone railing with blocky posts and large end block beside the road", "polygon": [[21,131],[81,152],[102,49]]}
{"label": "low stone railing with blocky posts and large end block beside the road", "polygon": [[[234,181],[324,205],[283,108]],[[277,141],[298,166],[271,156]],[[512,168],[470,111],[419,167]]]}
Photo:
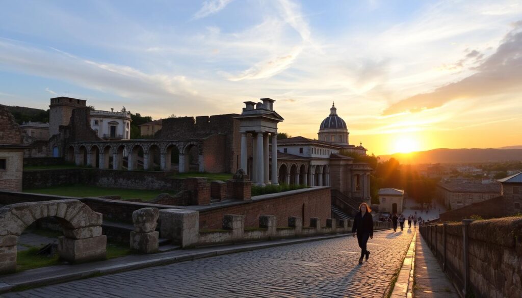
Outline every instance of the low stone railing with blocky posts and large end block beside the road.
{"label": "low stone railing with blocky posts and large end block beside the road", "polygon": [[[144,224],[144,216],[138,214],[145,213],[140,209],[133,214],[135,226]],[[152,211],[148,211],[152,212]],[[152,213],[151,213],[152,214]],[[140,222],[138,222],[140,219]],[[153,216],[149,216],[149,221],[155,221]],[[199,211],[181,209],[161,209],[159,210],[160,235],[162,238],[171,239],[173,244],[181,247],[205,246],[215,244],[230,244],[247,241],[266,241],[289,237],[314,236],[326,234],[351,233],[353,220],[326,219],[324,227],[319,218],[311,218],[309,225],[303,225],[302,218],[289,217],[283,224],[278,223],[277,217],[273,215],[259,216],[258,227],[245,228],[245,217],[237,214],[226,214],[223,216],[222,229],[199,230]],[[149,226],[151,226],[149,224]],[[374,230],[391,229],[391,223],[381,221],[374,222]],[[137,230],[136,230],[137,231]],[[156,244],[150,244],[152,240],[143,244],[137,244],[136,231],[132,232],[131,248],[143,253],[153,252],[157,249]],[[155,239],[157,241],[157,239]]]}

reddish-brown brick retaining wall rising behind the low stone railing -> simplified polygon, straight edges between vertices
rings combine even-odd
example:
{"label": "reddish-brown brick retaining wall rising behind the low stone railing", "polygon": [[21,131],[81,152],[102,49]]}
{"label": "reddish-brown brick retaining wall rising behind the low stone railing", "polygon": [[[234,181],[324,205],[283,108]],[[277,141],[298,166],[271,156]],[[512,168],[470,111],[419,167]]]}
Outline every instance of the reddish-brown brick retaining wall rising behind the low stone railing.
{"label": "reddish-brown brick retaining wall rising behind the low stone railing", "polygon": [[[201,210],[199,228],[221,229],[225,214],[244,215],[245,227],[257,227],[260,215],[275,215],[282,219],[293,216],[305,219],[318,217],[321,218],[322,225],[326,226],[326,219],[331,217],[330,188],[307,188],[287,193],[256,196],[252,197],[250,201],[238,202],[234,206]],[[286,227],[287,224],[286,221],[279,222],[278,226]],[[310,225],[309,222],[304,224]]]}

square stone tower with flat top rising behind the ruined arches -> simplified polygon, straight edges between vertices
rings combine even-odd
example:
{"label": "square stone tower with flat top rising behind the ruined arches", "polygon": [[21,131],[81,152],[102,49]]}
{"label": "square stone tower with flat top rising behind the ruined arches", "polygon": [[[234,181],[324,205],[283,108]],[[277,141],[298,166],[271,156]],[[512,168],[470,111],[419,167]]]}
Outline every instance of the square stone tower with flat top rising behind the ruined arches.
{"label": "square stone tower with flat top rising behind the ruined arches", "polygon": [[52,98],[49,105],[49,137],[58,134],[60,125],[68,125],[73,110],[85,108],[86,102],[85,100],[70,97]]}

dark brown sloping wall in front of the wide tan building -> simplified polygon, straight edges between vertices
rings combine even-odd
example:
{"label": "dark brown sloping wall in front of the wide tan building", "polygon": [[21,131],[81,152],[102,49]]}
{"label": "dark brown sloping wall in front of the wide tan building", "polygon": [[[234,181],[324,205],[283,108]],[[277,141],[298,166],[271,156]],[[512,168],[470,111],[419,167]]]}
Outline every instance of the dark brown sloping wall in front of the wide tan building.
{"label": "dark brown sloping wall in front of the wide tan building", "polygon": [[504,197],[495,197],[489,200],[474,203],[459,209],[450,210],[440,214],[441,221],[459,221],[469,219],[473,215],[485,219],[499,218],[507,215],[507,201]]}

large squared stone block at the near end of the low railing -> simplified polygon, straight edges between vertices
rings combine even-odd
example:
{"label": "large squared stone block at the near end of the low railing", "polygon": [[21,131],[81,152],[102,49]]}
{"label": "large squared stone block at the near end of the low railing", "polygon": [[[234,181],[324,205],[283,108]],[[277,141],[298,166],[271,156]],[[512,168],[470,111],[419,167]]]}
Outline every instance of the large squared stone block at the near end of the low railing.
{"label": "large squared stone block at the near end of the low railing", "polygon": [[199,237],[199,211],[183,209],[160,210],[160,235],[182,247],[194,245]]}

